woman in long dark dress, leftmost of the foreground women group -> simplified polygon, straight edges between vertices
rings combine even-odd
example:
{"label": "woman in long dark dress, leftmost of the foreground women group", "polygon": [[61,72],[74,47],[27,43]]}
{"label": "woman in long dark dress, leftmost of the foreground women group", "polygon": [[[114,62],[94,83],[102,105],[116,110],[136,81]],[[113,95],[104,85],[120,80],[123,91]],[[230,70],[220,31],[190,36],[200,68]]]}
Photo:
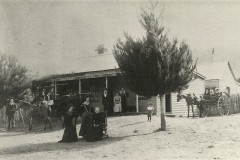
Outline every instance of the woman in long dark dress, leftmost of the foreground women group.
{"label": "woman in long dark dress, leftmost of the foreground women group", "polygon": [[69,105],[67,113],[64,115],[64,134],[59,143],[77,142],[76,117],[73,114],[73,105]]}

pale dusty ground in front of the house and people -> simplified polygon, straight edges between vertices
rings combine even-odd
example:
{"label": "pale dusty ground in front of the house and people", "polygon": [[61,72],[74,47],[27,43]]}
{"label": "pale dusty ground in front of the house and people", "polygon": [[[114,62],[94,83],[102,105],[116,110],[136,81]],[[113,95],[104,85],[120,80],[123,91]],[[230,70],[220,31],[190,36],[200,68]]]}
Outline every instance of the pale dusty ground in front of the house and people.
{"label": "pale dusty ground in front of the house and people", "polygon": [[[63,130],[0,131],[0,159],[240,159],[240,114],[204,119],[167,117],[168,130],[154,132],[154,116],[112,117],[109,138],[99,142],[56,143]],[[78,126],[79,130],[79,126]]]}

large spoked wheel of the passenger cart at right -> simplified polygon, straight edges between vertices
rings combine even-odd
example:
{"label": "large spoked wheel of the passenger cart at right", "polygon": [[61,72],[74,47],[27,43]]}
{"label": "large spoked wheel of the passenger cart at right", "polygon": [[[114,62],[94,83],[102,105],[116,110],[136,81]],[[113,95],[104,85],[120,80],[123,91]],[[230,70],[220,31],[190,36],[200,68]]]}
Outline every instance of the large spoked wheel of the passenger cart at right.
{"label": "large spoked wheel of the passenger cart at right", "polygon": [[218,98],[218,112],[221,116],[227,116],[230,112],[230,97],[226,94]]}

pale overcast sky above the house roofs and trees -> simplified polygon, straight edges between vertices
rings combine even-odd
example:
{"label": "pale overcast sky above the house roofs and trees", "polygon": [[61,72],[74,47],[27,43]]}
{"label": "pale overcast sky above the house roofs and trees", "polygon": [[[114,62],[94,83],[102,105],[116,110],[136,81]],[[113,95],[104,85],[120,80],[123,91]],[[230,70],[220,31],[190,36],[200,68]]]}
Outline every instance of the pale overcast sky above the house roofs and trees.
{"label": "pale overcast sky above the house roofs and trees", "polygon": [[[124,32],[145,34],[138,22],[147,1],[1,1],[0,53],[14,55],[40,76],[81,71],[94,57],[110,63]],[[159,1],[170,39],[189,44],[198,63],[228,60],[240,77],[240,2]],[[95,51],[99,44],[106,55]],[[97,65],[96,65],[97,66]],[[74,68],[74,69],[72,69]],[[79,70],[78,70],[79,69]]]}

